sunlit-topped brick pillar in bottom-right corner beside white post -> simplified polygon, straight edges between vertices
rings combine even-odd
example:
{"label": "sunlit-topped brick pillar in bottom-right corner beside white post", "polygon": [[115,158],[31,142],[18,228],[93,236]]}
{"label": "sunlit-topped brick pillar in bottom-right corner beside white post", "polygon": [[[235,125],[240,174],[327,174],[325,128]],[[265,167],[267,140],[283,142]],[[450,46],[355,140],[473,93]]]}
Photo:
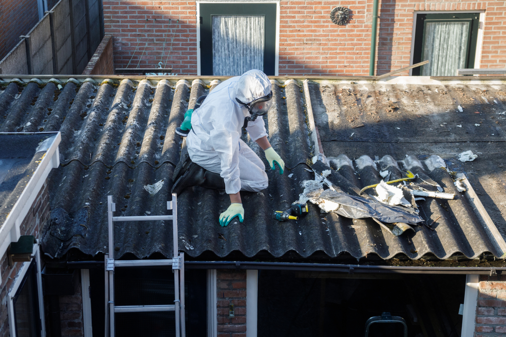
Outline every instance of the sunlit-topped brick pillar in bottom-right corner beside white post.
{"label": "sunlit-topped brick pillar in bottom-right corner beside white post", "polygon": [[506,275],[480,276],[475,336],[506,333]]}

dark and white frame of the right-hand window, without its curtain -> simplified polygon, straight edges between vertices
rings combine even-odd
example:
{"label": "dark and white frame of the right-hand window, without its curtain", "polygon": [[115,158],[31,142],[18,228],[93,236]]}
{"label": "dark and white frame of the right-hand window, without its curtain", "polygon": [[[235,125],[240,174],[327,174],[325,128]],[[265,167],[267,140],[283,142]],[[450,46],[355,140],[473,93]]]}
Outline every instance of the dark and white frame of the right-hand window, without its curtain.
{"label": "dark and white frame of the right-hand window, without its curtain", "polygon": [[[421,62],[426,20],[449,22],[471,20],[470,40],[467,45],[465,68],[477,68],[482,44],[481,22],[483,11],[418,11],[413,14],[413,35],[411,39],[411,64]],[[459,17],[456,17],[459,16]],[[472,18],[474,16],[474,18]],[[423,67],[423,66],[422,66]],[[411,76],[420,76],[421,67],[410,69]]]}

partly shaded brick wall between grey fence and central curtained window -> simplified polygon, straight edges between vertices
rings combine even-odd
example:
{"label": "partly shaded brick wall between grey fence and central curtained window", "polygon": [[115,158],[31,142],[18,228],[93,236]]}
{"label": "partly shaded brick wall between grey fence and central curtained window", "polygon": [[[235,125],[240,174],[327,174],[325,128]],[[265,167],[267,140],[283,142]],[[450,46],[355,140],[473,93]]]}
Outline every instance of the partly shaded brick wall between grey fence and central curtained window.
{"label": "partly shaded brick wall between grey fence and central curtained window", "polygon": [[[155,67],[197,74],[195,1],[103,0],[105,33],[117,67]],[[178,21],[179,20],[179,21]],[[167,59],[168,57],[168,59]]]}

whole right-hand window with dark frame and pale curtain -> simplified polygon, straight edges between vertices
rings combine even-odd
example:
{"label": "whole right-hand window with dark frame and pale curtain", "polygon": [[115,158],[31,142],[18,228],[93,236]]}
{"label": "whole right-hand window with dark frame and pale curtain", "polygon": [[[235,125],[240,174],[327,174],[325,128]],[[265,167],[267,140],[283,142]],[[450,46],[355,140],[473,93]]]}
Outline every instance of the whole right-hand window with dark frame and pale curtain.
{"label": "whole right-hand window with dark frame and pale curtain", "polygon": [[418,14],[413,64],[429,63],[412,74],[455,76],[457,69],[474,68],[478,26],[478,13]]}

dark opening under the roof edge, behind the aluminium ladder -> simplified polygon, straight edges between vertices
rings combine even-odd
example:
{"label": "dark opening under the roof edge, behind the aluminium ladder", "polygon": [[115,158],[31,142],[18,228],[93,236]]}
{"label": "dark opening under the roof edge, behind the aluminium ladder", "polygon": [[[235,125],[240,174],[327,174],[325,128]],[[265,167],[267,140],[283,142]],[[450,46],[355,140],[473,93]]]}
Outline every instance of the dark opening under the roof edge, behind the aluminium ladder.
{"label": "dark opening under the roof edge, behind the aluminium ladder", "polygon": [[[174,274],[166,268],[117,268],[114,271],[115,302],[125,305],[174,304]],[[90,273],[93,332],[102,335],[104,326],[104,271]],[[93,289],[97,291],[94,292]],[[100,291],[101,290],[101,291]],[[188,336],[206,333],[206,270],[185,271],[185,318]],[[116,335],[174,336],[174,312],[117,313]]]}

